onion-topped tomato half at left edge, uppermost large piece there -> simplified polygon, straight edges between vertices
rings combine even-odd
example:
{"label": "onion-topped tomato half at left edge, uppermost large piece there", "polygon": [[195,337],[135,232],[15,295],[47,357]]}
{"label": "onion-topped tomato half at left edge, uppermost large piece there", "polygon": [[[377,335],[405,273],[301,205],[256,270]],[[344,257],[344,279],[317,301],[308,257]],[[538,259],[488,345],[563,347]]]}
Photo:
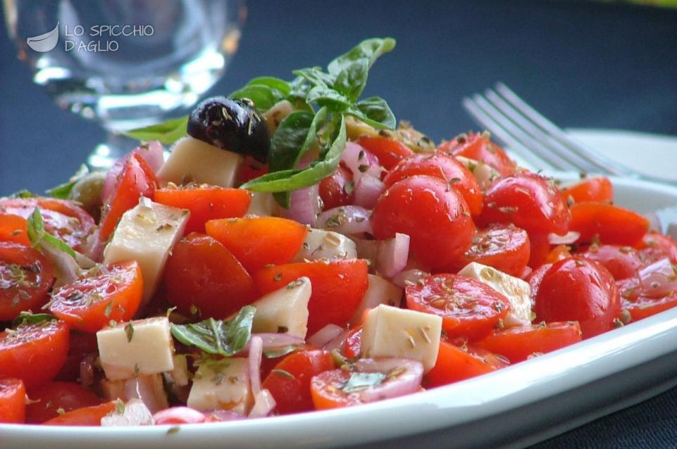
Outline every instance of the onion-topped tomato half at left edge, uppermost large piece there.
{"label": "onion-topped tomato half at left edge, uppermost large piece there", "polygon": [[[4,198],[0,212],[28,219],[35,208],[40,209],[44,230],[80,251],[92,229],[94,219],[82,208],[56,198]],[[21,229],[25,229],[23,226]]]}

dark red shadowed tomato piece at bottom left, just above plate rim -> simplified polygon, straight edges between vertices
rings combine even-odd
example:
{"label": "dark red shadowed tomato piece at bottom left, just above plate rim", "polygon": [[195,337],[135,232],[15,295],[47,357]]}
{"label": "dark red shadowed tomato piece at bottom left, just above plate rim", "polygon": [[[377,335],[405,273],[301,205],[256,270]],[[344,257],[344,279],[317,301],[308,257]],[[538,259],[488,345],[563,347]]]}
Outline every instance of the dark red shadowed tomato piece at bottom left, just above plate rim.
{"label": "dark red shadowed tomato piece at bottom left, just above plate rim", "polygon": [[41,424],[58,417],[59,409],[70,412],[80,407],[101,404],[99,396],[91,390],[70,382],[49,382],[28,392],[31,402],[26,406],[26,422]]}

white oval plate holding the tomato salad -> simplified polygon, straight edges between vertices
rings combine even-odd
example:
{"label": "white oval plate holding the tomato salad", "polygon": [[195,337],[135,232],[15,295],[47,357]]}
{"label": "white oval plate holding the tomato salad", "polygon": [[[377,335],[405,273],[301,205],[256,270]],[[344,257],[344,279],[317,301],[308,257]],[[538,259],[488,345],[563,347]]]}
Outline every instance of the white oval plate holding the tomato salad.
{"label": "white oval plate holding the tomato salad", "polygon": [[[559,176],[563,180],[576,175]],[[619,204],[649,212],[677,188],[613,179]],[[1,448],[522,446],[675,384],[677,308],[497,372],[360,407],[223,424],[63,428],[0,425]],[[397,441],[393,441],[397,439]]]}

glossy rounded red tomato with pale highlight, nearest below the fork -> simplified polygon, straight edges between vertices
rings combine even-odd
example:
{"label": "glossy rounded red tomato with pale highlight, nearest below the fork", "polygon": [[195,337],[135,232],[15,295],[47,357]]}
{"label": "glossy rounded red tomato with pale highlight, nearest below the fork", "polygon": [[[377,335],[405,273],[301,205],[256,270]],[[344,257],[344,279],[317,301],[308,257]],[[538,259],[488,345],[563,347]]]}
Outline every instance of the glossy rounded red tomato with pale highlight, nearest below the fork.
{"label": "glossy rounded red tomato with pale highlight, nearest below the fork", "polygon": [[544,177],[521,172],[487,189],[480,223],[514,223],[529,234],[565,234],[571,214],[557,187]]}

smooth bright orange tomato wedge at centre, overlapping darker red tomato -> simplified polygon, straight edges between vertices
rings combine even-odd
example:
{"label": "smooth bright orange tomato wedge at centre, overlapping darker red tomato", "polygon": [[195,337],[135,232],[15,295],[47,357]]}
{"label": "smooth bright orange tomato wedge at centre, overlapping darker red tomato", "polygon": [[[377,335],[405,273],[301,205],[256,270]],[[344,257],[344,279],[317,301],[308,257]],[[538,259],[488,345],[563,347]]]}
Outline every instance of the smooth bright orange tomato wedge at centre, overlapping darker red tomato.
{"label": "smooth bright orange tomato wedge at centre, overlapping darker red tomato", "polygon": [[279,217],[211,220],[207,222],[206,230],[250,273],[271,263],[290,262],[308,234],[304,225]]}

